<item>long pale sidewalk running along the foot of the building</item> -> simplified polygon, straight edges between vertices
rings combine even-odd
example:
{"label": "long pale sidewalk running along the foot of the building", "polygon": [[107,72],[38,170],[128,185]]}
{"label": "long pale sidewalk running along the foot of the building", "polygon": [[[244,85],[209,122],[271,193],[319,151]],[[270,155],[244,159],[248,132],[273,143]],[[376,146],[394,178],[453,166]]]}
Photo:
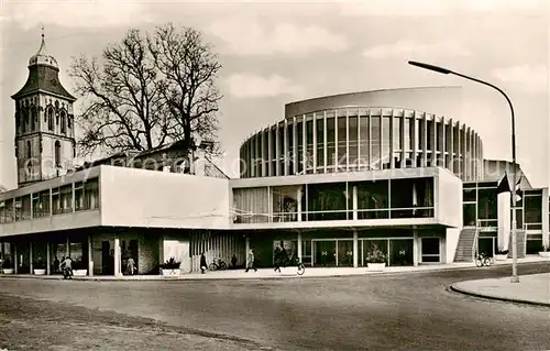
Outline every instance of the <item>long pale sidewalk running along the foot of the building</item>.
{"label": "long pale sidewalk running along the foot of the building", "polygon": [[[518,263],[534,263],[534,262],[549,262],[548,259],[540,256],[528,256],[518,260]],[[497,261],[495,265],[508,265],[512,260]],[[296,267],[280,268],[280,273],[274,272],[273,268],[260,268],[257,272],[250,271],[245,273],[244,270],[228,270],[200,273],[186,273],[178,276],[162,276],[162,275],[95,275],[95,276],[75,276],[74,279],[78,281],[202,281],[202,279],[277,279],[277,278],[305,278],[305,277],[338,277],[338,276],[353,276],[353,275],[371,275],[371,274],[396,274],[396,273],[421,273],[435,271],[449,271],[449,270],[470,270],[475,267],[472,262],[464,263],[449,263],[449,264],[422,264],[418,266],[389,266],[384,271],[369,271],[366,267],[306,267],[304,275],[298,275]],[[482,267],[480,270],[483,270]],[[61,279],[61,275],[4,275],[1,277],[11,278],[42,278],[42,279]]]}

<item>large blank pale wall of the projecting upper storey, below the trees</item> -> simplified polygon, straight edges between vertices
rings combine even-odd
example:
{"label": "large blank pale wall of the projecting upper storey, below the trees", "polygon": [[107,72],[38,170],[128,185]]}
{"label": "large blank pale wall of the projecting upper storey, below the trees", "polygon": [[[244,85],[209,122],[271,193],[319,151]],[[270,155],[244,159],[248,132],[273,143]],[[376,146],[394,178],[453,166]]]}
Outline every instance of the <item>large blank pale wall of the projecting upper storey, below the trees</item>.
{"label": "large blank pale wall of the projecting upper storey, below the trees", "polygon": [[103,226],[229,228],[227,179],[101,166],[100,191]]}

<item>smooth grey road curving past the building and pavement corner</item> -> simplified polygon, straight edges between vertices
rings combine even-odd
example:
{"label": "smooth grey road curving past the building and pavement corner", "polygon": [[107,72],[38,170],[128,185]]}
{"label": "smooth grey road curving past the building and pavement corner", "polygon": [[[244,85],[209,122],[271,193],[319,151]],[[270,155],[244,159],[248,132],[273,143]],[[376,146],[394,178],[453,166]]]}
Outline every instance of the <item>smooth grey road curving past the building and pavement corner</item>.
{"label": "smooth grey road curving past the building and pavement corner", "polygon": [[[153,318],[280,350],[546,350],[550,309],[450,292],[509,266],[329,278],[0,279],[0,294]],[[520,274],[550,272],[521,264]],[[521,284],[521,283],[519,283]],[[0,298],[6,298],[1,297]]]}

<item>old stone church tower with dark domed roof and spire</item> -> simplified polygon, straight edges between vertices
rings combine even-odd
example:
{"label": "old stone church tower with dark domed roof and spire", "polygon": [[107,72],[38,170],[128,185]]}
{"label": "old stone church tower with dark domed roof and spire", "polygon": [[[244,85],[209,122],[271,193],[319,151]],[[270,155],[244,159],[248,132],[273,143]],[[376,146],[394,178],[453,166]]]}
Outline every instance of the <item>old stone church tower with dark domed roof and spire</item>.
{"label": "old stone church tower with dark domed roof and spire", "polygon": [[75,157],[72,96],[59,81],[57,61],[46,53],[44,33],[29,59],[29,77],[15,101],[15,157],[19,186],[65,174]]}

